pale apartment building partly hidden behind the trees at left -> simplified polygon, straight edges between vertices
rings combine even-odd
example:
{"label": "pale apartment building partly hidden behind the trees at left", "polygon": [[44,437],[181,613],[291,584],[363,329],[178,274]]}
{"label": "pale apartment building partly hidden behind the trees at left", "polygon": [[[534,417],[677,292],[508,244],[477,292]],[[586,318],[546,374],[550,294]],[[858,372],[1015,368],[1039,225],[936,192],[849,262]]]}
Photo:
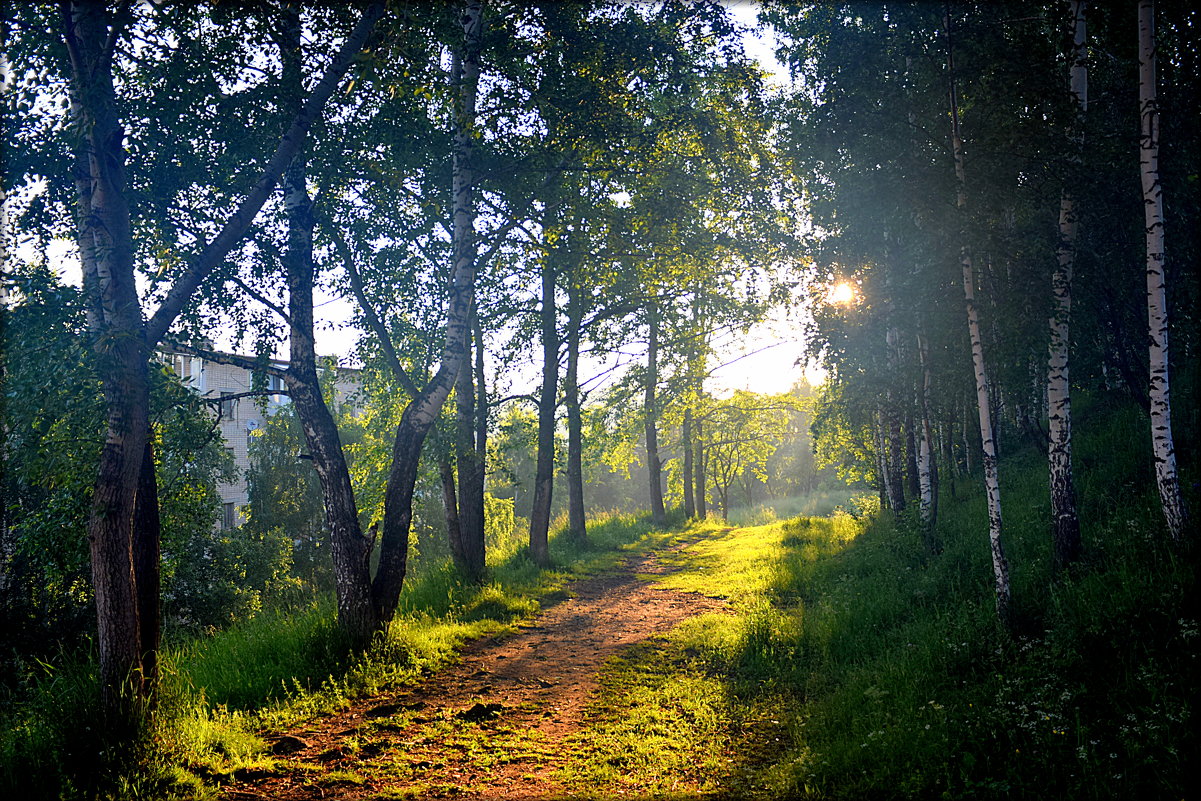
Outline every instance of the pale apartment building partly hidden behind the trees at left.
{"label": "pale apartment building partly hidden behind the trees at left", "polygon": [[[160,358],[202,397],[220,401],[215,404],[220,413],[217,425],[225,441],[225,448],[233,456],[235,472],[232,483],[217,486],[217,494],[221,496],[219,525],[222,528],[239,526],[245,522],[241,509],[250,500],[246,490],[246,472],[250,470],[250,440],[255,436],[253,432],[263,425],[267,417],[288,402],[288,396],[281,391],[283,382],[275,376],[267,377],[267,389],[273,394],[267,396],[264,413],[261,404],[256,402],[257,397],[241,396],[253,390],[250,370],[171,349],[162,351]],[[273,359],[271,365],[286,369],[288,363]],[[339,394],[343,397],[352,395],[359,384],[358,370],[339,367],[337,373]]]}

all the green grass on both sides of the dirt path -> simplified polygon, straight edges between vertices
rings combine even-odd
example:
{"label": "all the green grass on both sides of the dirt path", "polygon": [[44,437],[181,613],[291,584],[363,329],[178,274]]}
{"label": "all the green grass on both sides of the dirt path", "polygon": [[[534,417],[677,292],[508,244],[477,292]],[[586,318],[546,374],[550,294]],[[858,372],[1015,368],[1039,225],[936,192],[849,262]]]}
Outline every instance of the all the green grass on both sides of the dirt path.
{"label": "all the green grass on both sides of the dirt path", "polygon": [[[728,598],[729,612],[611,662],[567,743],[438,718],[422,735],[430,747],[450,743],[484,766],[552,765],[581,797],[1188,797],[1201,755],[1195,551],[1166,543],[1145,442],[1130,436],[1140,426],[1136,410],[1077,406],[1086,557],[1064,576],[1051,569],[1045,462],[1006,454],[1014,632],[993,612],[975,480],[944,492],[937,554],[910,516],[872,513],[870,500],[847,503],[854,514],[747,527],[652,531],[613,518],[590,528],[588,549],[554,540],[550,570],[513,544],[494,554],[483,586],[449,569],[410,582],[366,654],[337,644],[319,604],[178,644],[165,659],[162,724],[138,751],[89,751],[103,727],[89,660],[47,668],[6,721],[0,796],[215,797],[217,782],[273,769],[262,728],[413,681],[465,639],[561,597],[573,576],[656,548],[677,568],[656,580]],[[388,751],[386,739],[366,730],[359,747],[419,778],[422,743]],[[324,781],[341,791],[360,777]]]}

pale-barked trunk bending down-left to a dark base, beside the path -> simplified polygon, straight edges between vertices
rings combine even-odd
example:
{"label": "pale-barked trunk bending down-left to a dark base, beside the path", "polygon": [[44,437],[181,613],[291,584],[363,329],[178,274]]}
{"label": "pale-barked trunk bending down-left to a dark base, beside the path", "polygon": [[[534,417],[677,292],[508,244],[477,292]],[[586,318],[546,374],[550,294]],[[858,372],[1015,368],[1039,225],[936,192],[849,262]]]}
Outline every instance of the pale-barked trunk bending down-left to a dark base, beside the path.
{"label": "pale-barked trunk bending down-left to a dark base, beside the path", "polygon": [[454,197],[453,250],[454,274],[447,309],[447,335],[442,345],[438,371],[400,417],[392,449],[392,467],[383,501],[383,536],[380,542],[380,567],[371,584],[376,626],[388,623],[396,612],[400,588],[408,568],[408,536],[413,524],[413,488],[422,459],[422,446],[450,395],[460,370],[470,370],[467,351],[471,341],[471,310],[476,286],[476,198],[474,145],[476,96],[479,84],[479,49],[483,32],[483,7],[479,0],[467,0],[460,17],[464,30],[462,53],[456,59],[454,78],[455,135],[452,178]]}

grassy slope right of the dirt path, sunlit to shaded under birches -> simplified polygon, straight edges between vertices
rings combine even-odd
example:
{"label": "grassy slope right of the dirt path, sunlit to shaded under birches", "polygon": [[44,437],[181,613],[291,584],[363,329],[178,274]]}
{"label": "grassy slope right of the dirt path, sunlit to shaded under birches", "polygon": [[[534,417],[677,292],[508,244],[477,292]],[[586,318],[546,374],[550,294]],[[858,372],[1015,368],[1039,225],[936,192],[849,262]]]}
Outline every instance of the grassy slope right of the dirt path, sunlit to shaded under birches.
{"label": "grassy slope right of the dirt path, sunlit to shaded under birches", "polygon": [[963,482],[944,497],[937,556],[891,515],[715,533],[665,582],[727,596],[735,614],[615,663],[568,781],[735,797],[1187,797],[1194,567],[1164,544],[1137,417],[1092,414],[1077,437],[1088,555],[1069,579],[1050,570],[1045,462],[1003,464],[1020,634],[994,622],[984,503]]}

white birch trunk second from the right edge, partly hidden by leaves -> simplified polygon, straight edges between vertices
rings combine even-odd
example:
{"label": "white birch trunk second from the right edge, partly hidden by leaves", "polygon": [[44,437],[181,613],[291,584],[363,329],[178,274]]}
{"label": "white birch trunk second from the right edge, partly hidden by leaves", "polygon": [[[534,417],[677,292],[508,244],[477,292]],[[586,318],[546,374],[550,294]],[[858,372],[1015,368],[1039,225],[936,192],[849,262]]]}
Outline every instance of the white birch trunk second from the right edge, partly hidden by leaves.
{"label": "white birch trunk second from the right edge, partly hidden by leaves", "polygon": [[[1088,50],[1085,46],[1083,0],[1072,0],[1074,20],[1071,94],[1077,114],[1072,133],[1082,136],[1083,115],[1088,109]],[[1080,142],[1074,161],[1078,162]],[[1071,383],[1068,376],[1071,274],[1076,263],[1076,209],[1070,181],[1059,197],[1059,245],[1056,269],[1051,276],[1051,345],[1047,358],[1047,466],[1051,482],[1051,542],[1056,569],[1063,569],[1080,556],[1080,520],[1076,516],[1076,488],[1071,471]]]}

